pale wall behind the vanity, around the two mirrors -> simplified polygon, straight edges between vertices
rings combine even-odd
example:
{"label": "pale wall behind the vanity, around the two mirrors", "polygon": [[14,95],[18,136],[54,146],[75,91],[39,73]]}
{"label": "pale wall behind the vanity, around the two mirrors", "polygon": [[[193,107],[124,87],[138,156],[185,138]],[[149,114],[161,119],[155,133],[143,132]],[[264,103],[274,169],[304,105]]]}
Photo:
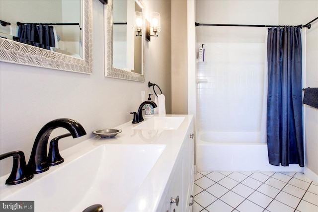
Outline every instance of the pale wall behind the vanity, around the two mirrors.
{"label": "pale wall behind the vanity, around the two mirrors", "polygon": [[[75,119],[87,133],[61,140],[60,150],[92,137],[93,130],[132,120],[130,112],[137,111],[141,91],[153,93],[148,81],[160,86],[171,113],[170,2],[146,0],[145,5],[161,14],[162,26],[159,37],[146,44],[146,82],[104,77],[104,9],[99,0],[93,0],[93,74],[0,62],[0,154],[22,150],[28,160],[37,133],[57,118]],[[65,132],[56,129],[51,137]],[[12,159],[1,160],[0,175],[11,167]]]}

